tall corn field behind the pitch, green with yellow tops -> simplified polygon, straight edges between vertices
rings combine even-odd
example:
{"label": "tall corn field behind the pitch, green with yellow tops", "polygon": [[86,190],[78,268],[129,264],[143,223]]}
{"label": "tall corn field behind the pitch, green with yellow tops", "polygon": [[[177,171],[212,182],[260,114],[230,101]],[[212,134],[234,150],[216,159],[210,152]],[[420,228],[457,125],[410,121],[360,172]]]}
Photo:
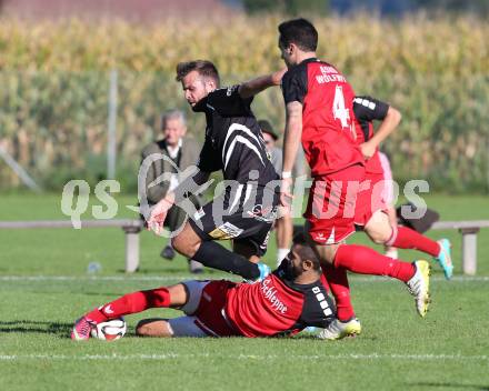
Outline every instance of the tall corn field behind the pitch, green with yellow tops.
{"label": "tall corn field behind the pitch, green with yellow tops", "polygon": [[[174,81],[179,61],[216,62],[223,83],[281,67],[278,17],[27,22],[0,19],[0,148],[46,189],[106,176],[109,72],[119,72],[118,178],[133,190],[139,152],[160,113],[181,108],[203,136]],[[359,94],[398,108],[403,119],[385,143],[395,176],[427,179],[447,192],[489,192],[489,26],[481,20],[368,16],[315,20],[319,56]],[[257,117],[283,127],[279,89],[256,98]],[[0,189],[19,187],[0,162]]]}

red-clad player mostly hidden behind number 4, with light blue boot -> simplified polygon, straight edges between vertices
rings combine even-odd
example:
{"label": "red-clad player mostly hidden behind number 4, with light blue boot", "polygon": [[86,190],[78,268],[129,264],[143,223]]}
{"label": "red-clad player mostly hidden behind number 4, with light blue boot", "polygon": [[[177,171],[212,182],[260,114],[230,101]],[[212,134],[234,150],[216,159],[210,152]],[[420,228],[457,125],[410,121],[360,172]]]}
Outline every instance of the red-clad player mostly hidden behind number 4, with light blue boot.
{"label": "red-clad player mostly hidden behind number 4, with light blue boot", "polygon": [[[408,227],[392,225],[387,213],[389,204],[383,194],[385,169],[378,147],[399,124],[400,112],[378,99],[356,97],[353,113],[361,128],[357,143],[366,159],[365,189],[360,190],[357,198],[355,224],[362,227],[370,239],[378,244],[415,249],[430,254],[440,263],[445,277],[450,279],[453,265],[448,239],[437,242]],[[373,133],[375,120],[382,122]]]}

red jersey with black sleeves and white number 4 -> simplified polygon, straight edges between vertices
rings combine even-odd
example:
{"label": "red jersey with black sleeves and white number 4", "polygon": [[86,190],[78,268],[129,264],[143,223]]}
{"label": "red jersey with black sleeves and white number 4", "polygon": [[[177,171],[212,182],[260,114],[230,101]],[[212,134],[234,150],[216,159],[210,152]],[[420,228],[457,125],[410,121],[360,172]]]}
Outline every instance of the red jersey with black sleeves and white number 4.
{"label": "red jersey with black sleeves and white number 4", "polygon": [[332,66],[307,59],[282,78],[286,104],[302,103],[302,148],[312,177],[363,163],[357,139],[361,133],[353,116],[355,92]]}

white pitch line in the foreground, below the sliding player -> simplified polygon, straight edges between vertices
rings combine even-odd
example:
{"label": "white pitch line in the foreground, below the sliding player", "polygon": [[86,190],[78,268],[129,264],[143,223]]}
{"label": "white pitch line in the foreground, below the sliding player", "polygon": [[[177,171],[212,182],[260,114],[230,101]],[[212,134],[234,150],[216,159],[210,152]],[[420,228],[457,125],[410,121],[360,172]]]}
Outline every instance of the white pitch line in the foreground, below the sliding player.
{"label": "white pitch line in the foreground, below the sliding player", "polygon": [[104,360],[178,360],[178,359],[229,359],[229,360],[407,360],[407,361],[489,361],[489,355],[460,354],[381,354],[381,353],[350,353],[350,354],[209,354],[209,353],[167,353],[167,354],[0,354],[0,361],[20,360],[52,360],[52,361],[104,361]]}

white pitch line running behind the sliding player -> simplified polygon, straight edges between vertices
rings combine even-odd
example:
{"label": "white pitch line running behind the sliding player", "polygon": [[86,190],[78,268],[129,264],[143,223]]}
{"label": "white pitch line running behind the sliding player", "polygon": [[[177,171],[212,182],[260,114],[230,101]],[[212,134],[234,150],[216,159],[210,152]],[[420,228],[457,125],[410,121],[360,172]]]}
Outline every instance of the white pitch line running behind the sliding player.
{"label": "white pitch line running behind the sliding player", "polygon": [[[0,275],[0,281],[183,281],[194,280],[196,274],[180,275]],[[231,274],[202,275],[201,279],[227,279],[239,281],[239,278]],[[350,275],[356,282],[386,282],[392,279],[386,277],[359,277]],[[431,281],[446,281],[443,277],[432,277]],[[456,275],[447,283],[452,282],[489,282],[487,275]]]}

